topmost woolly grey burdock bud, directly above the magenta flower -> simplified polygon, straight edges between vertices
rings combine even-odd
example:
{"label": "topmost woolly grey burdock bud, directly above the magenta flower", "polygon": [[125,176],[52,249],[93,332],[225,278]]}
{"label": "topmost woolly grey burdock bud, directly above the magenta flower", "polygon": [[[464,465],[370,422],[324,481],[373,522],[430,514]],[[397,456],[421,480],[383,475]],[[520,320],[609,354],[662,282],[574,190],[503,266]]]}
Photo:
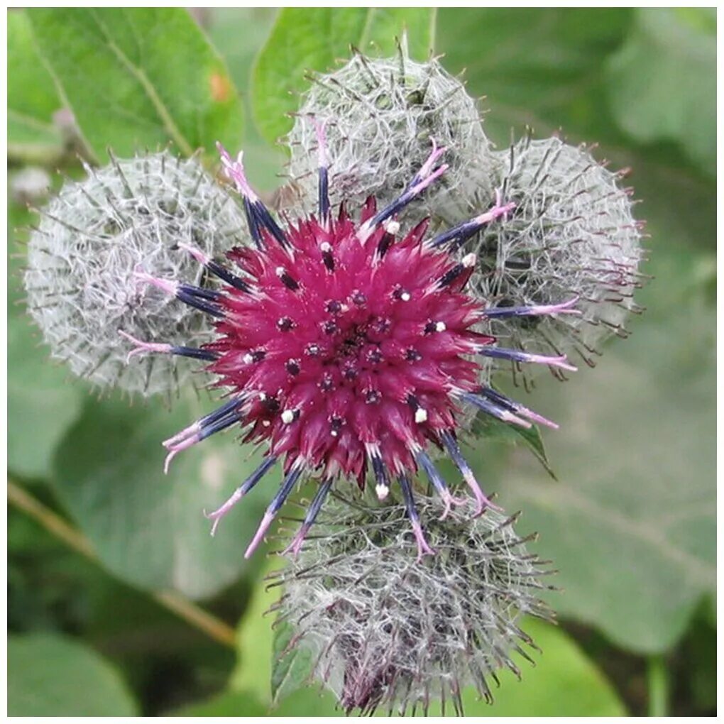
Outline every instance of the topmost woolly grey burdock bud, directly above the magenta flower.
{"label": "topmost woolly grey burdock bud, directly above the magenta flower", "polygon": [[303,206],[316,202],[316,157],[309,153],[316,137],[309,117],[326,124],[332,203],[362,203],[370,195],[378,206],[390,203],[418,172],[433,140],[447,148],[450,164],[421,201],[433,222],[467,218],[481,190],[492,198],[494,173],[487,166],[500,161],[478,104],[437,59],[413,61],[403,41],[397,56],[355,52],[342,67],[311,80],[287,136],[290,179]]}

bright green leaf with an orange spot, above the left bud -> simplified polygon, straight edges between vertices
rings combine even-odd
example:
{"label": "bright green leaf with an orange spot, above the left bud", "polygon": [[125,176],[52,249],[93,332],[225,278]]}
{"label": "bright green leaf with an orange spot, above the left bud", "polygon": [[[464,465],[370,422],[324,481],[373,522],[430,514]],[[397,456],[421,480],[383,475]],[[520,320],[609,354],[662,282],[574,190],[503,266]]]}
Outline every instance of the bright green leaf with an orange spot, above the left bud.
{"label": "bright green leaf with an orange spot, above the left bud", "polygon": [[237,148],[242,109],[222,59],[179,8],[31,9],[41,55],[98,159],[169,140]]}

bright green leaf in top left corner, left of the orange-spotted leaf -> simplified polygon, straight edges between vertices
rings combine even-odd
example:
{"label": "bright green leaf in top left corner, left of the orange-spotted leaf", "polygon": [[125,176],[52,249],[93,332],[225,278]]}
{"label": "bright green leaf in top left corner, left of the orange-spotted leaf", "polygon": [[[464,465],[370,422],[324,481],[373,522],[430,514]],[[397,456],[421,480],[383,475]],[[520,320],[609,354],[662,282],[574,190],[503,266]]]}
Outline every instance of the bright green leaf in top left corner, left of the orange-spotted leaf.
{"label": "bright green leaf in top left corner, left of the orange-spotted leaf", "polygon": [[63,143],[53,114],[63,104],[24,10],[7,11],[7,99],[9,158],[45,164],[57,159]]}

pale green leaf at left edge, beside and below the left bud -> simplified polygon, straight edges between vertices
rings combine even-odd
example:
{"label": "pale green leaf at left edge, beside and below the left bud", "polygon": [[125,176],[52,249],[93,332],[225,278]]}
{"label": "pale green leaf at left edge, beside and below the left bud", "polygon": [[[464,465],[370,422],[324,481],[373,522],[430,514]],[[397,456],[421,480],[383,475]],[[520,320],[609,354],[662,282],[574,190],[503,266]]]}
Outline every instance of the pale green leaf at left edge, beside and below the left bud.
{"label": "pale green leaf at left edge, beside and below the left bud", "polygon": [[[12,227],[30,224],[27,209],[9,203]],[[22,304],[24,247],[10,244],[7,327],[7,466],[17,476],[47,478],[53,452],[64,432],[80,415],[86,391],[70,372],[51,361],[42,335]]]}

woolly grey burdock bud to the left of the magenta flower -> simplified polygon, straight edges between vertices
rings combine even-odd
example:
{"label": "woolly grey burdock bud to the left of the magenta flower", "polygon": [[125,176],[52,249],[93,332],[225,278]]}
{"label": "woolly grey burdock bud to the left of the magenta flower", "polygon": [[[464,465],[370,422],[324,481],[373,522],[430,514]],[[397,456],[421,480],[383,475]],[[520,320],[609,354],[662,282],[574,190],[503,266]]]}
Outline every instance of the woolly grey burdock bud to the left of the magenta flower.
{"label": "woolly grey burdock bud to the left of the magenta flower", "polygon": [[67,180],[30,234],[28,310],[52,356],[78,376],[101,389],[170,395],[190,366],[174,355],[127,365],[118,330],[188,345],[206,341],[211,326],[205,315],[139,285],[134,272],[140,266],[198,285],[203,269],[177,244],[209,256],[247,244],[243,211],[195,158],[163,151],[85,169],[87,178]]}

